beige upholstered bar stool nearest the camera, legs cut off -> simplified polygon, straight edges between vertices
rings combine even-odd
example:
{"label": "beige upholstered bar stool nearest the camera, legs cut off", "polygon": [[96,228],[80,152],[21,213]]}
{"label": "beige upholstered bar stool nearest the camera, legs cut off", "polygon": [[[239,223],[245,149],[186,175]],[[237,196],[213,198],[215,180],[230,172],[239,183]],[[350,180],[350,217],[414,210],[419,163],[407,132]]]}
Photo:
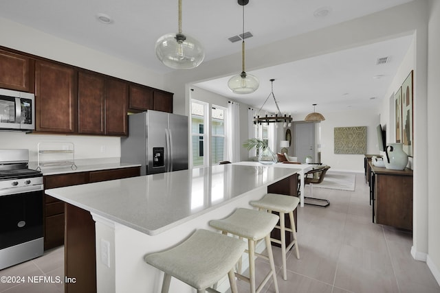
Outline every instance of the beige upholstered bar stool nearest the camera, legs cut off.
{"label": "beige upholstered bar stool nearest the camera, legs cut off", "polygon": [[197,293],[218,292],[210,288],[228,274],[231,292],[237,293],[234,266],[245,251],[246,243],[208,230],[197,230],[184,242],[168,250],[146,255],[146,263],[162,270],[162,293],[170,289],[175,277]]}

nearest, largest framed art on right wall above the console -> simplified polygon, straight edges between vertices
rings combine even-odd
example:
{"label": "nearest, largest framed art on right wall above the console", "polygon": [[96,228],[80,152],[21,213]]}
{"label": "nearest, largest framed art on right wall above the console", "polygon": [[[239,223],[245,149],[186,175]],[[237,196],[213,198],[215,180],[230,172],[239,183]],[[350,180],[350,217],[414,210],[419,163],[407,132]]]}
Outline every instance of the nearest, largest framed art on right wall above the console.
{"label": "nearest, largest framed art on right wall above the console", "polygon": [[403,84],[401,84],[401,119],[402,119],[402,136],[401,142],[404,143],[404,152],[408,156],[412,156],[412,150],[414,148],[413,137],[413,94],[412,94],[412,71],[406,78]]}

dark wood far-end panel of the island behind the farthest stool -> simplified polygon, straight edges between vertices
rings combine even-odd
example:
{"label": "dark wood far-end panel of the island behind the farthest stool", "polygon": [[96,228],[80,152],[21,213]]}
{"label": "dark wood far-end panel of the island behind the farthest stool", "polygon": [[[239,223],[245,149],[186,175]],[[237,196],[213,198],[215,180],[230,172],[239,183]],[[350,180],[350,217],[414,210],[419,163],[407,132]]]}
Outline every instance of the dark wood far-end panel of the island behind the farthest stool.
{"label": "dark wood far-end panel of the island behind the farthest stool", "polygon": [[[270,194],[285,194],[286,196],[298,196],[298,174],[294,174],[272,185],[267,186],[267,192]],[[296,220],[296,209],[294,211],[294,221],[295,221],[296,231],[298,231],[298,220]],[[289,214],[285,214],[285,226],[286,227],[292,226],[290,224]],[[285,242],[286,242],[286,246],[288,246],[290,242],[292,242],[292,233],[289,231],[285,231],[285,234],[286,234]],[[281,240],[281,231],[279,229],[274,229],[271,233],[271,237]],[[272,245],[281,247],[281,245],[277,243],[272,243]]]}

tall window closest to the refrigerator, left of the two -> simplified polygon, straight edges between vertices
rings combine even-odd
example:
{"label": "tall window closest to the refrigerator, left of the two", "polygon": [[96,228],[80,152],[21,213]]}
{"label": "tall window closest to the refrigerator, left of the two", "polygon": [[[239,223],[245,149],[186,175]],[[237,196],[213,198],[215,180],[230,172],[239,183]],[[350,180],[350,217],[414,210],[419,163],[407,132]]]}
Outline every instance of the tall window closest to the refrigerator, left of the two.
{"label": "tall window closest to the refrigerator, left of the two", "polygon": [[205,165],[206,108],[206,103],[194,100],[191,102],[192,167]]}

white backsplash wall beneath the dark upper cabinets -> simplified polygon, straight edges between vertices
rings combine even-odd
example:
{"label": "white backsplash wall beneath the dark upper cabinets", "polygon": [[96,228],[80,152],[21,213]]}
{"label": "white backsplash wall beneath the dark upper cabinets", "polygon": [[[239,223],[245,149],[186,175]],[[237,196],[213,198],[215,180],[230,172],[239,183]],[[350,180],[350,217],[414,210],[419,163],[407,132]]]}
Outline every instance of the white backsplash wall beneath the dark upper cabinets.
{"label": "white backsplash wall beneath the dark upper cabinets", "polygon": [[120,158],[120,137],[88,137],[76,135],[25,134],[0,132],[0,149],[24,148],[29,150],[29,161],[37,161],[40,142],[72,142],[75,159]]}

